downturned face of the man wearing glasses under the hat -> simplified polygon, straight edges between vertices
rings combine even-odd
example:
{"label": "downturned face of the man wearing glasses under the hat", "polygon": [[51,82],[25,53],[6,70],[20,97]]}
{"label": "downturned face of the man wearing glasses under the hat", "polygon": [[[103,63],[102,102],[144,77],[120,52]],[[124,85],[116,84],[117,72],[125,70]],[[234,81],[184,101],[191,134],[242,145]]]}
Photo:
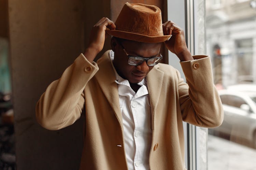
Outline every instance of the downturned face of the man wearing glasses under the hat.
{"label": "downturned face of the man wearing glasses under the hat", "polygon": [[[120,45],[120,43],[122,45]],[[148,66],[146,61],[138,66],[129,65],[128,57],[124,52],[123,47],[129,55],[150,58],[158,56],[161,44],[140,43],[131,40],[118,42],[115,38],[112,38],[111,46],[112,50],[115,52],[113,65],[117,73],[130,83],[139,83],[146,77],[148,72],[150,72],[154,66]]]}

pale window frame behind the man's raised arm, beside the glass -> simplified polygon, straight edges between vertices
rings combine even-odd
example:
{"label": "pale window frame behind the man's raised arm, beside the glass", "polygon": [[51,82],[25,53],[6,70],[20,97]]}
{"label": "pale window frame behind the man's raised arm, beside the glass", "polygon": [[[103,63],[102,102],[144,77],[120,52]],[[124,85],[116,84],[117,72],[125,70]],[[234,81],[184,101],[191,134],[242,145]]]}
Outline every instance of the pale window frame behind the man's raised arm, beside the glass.
{"label": "pale window frame behind the man's raised arm, beside the glass", "polygon": [[[199,2],[200,1],[200,2]],[[205,35],[198,39],[197,24],[195,26],[195,20],[197,19],[195,12],[196,6],[203,4],[203,11],[205,10],[205,0],[172,0],[167,1],[167,14],[168,20],[174,21],[181,28],[185,28],[186,43],[191,54],[205,53],[206,46],[201,42],[205,41]],[[204,16],[202,16],[204,17]],[[203,28],[204,30],[204,25]],[[201,43],[201,44],[200,44]],[[200,45],[199,45],[200,44]],[[180,66],[179,59],[175,54],[168,52],[169,64],[179,70],[181,77],[185,80],[185,75]],[[188,170],[205,169],[207,167],[207,137],[208,130],[206,128],[199,128],[189,123],[183,123],[184,128],[184,142],[185,142],[185,164]],[[200,139],[200,140],[199,140]],[[203,143],[203,146],[201,144]],[[200,155],[199,155],[200,154]]]}

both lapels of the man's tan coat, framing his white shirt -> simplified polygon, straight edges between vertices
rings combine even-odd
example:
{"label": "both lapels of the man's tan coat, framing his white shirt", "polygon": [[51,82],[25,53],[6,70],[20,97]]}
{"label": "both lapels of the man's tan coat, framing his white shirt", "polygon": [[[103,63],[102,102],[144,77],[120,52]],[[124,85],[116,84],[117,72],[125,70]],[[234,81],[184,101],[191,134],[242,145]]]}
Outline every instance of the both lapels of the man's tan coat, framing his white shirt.
{"label": "both lapels of the man's tan coat, framing his white shirt", "polygon": [[[99,85],[106,99],[111,105],[116,118],[123,128],[122,113],[119,106],[118,87],[115,83],[116,76],[109,58],[109,52],[109,50],[106,51],[97,61],[99,71],[95,74],[95,77],[99,82]],[[146,77],[147,88],[150,96],[151,113],[153,118],[161,92],[163,74],[163,71],[159,70],[159,65],[156,65]]]}

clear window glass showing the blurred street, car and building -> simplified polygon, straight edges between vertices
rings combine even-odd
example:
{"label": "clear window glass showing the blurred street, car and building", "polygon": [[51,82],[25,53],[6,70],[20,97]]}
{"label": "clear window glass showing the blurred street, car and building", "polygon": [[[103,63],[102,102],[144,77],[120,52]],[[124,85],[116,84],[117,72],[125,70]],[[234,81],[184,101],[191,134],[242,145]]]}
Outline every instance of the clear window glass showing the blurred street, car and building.
{"label": "clear window glass showing the blurred street, car and building", "polygon": [[224,109],[208,170],[256,169],[256,0],[205,0],[207,54]]}

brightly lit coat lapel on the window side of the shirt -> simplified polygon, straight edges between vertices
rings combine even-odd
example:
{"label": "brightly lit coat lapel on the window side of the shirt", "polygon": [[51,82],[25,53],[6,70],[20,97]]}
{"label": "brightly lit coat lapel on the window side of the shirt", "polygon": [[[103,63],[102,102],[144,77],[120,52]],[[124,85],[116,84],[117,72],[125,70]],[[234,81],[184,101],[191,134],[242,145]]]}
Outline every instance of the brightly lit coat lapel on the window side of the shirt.
{"label": "brightly lit coat lapel on the window side of the shirt", "polygon": [[154,118],[156,113],[156,106],[158,104],[160,92],[163,83],[164,72],[158,69],[156,65],[147,75],[147,88],[150,96],[151,113],[152,113],[152,129],[154,129]]}

